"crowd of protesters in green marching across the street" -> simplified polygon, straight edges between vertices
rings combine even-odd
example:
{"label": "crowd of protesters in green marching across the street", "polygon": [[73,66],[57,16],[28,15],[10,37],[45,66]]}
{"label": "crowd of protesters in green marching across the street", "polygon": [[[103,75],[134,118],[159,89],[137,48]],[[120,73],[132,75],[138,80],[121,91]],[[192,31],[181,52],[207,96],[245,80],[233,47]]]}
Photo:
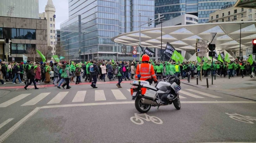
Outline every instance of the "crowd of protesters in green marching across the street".
{"label": "crowd of protesters in green marching across the street", "polygon": [[[91,82],[91,87],[97,88],[97,79],[101,82],[106,82],[106,78],[109,81],[115,81],[118,79],[116,86],[121,87],[121,82],[124,80],[134,79],[136,73],[136,67],[140,62],[138,61],[88,61],[85,63],[75,63],[68,61],[62,62],[1,62],[0,64],[0,82],[12,82],[16,84],[17,80],[19,83],[25,83],[25,89],[30,85],[34,84],[35,89],[37,84],[44,82],[45,84],[53,83],[57,88],[69,89],[69,83],[75,82],[79,84],[81,78],[85,79],[85,82]],[[231,61],[230,63],[223,63],[219,61],[203,61],[202,64],[197,61],[187,62],[156,62],[150,61],[150,64],[154,67],[154,71],[158,79],[168,77],[170,75],[176,75],[178,77],[188,78],[191,75],[191,79],[195,78],[195,75],[200,75],[200,68],[202,67],[203,76],[218,75],[226,77],[244,76],[250,75],[251,72],[255,71],[256,62],[250,64],[245,61]],[[5,79],[5,82],[4,80]],[[76,79],[76,81],[74,81]],[[53,81],[53,82],[51,82]]]}

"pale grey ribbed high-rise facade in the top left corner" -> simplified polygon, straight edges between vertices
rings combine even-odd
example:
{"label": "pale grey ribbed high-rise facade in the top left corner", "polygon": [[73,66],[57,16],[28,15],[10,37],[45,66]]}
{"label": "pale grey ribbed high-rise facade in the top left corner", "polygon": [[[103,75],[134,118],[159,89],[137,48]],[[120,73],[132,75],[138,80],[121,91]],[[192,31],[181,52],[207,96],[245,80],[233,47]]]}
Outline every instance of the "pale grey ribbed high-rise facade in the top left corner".
{"label": "pale grey ribbed high-rise facade in the top left corner", "polygon": [[38,19],[38,0],[0,0],[0,16]]}

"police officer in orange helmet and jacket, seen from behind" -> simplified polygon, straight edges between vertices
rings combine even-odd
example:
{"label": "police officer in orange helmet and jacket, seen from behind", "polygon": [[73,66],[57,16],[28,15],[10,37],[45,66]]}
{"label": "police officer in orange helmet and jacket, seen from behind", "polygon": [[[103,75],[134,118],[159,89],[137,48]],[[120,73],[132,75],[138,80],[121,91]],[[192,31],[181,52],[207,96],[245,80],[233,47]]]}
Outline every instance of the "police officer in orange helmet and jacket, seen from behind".
{"label": "police officer in orange helmet and jacket, seen from behind", "polygon": [[152,83],[151,78],[153,78],[154,83],[157,83],[157,76],[154,72],[154,67],[152,64],[149,64],[148,61],[150,57],[148,55],[142,56],[142,63],[139,64],[136,68],[135,80],[139,80],[138,75],[141,75],[140,80],[145,80]]}

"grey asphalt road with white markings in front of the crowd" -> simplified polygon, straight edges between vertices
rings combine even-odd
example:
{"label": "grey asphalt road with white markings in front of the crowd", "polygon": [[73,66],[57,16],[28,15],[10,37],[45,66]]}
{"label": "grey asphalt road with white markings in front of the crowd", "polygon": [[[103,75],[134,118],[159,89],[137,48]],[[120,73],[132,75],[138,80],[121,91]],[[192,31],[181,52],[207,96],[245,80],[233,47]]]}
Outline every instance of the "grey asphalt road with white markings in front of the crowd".
{"label": "grey asphalt road with white markings in front of the crowd", "polygon": [[182,84],[181,110],[152,107],[137,117],[129,83],[97,86],[13,88],[0,98],[0,142],[256,142],[254,101]]}

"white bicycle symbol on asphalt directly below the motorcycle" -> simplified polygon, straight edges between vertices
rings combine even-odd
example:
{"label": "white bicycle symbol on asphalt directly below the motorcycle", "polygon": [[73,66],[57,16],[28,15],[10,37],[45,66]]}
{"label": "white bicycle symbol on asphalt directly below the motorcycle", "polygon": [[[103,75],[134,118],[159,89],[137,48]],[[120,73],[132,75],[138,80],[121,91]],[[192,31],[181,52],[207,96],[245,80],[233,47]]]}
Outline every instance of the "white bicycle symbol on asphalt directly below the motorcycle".
{"label": "white bicycle symbol on asphalt directly below the motorcycle", "polygon": [[[145,116],[146,118],[141,117],[141,116]],[[134,116],[130,117],[130,120],[134,124],[138,124],[138,125],[144,124],[144,121],[142,119],[146,120],[148,122],[151,121],[151,122],[156,123],[156,124],[163,124],[163,121],[160,118],[155,117],[155,116],[149,116],[146,113],[142,113],[142,114],[134,113]]]}

